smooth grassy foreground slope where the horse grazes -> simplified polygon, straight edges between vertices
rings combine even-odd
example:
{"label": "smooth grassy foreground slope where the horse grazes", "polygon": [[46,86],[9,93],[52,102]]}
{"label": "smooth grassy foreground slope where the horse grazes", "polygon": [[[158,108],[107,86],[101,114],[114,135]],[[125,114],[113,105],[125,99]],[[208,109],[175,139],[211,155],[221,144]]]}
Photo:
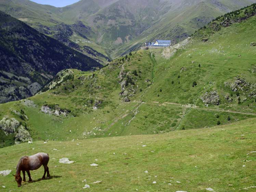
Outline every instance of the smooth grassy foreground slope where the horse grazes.
{"label": "smooth grassy foreground slope where the horse grazes", "polygon": [[[1,191],[205,192],[206,188],[212,188],[218,192],[253,192],[255,125],[255,119],[250,119],[219,128],[162,135],[37,141],[3,148],[0,170],[11,169],[11,174],[15,174],[15,166],[23,155],[49,153],[51,179],[40,181],[43,175],[40,168],[31,171],[36,182],[23,182],[17,189],[11,174],[0,176],[0,185],[5,186]],[[60,164],[63,157],[75,163]],[[91,167],[92,163],[98,167]],[[102,182],[93,184],[95,181]],[[85,184],[90,188],[82,189]]]}

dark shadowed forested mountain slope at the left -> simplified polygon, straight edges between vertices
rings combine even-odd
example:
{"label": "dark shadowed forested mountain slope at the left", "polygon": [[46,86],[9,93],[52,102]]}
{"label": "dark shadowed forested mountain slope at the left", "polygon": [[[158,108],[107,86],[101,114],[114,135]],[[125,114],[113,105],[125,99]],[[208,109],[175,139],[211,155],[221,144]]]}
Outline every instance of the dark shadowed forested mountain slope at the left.
{"label": "dark shadowed forested mountain slope at the left", "polygon": [[101,66],[3,12],[0,34],[1,103],[34,95],[62,69]]}

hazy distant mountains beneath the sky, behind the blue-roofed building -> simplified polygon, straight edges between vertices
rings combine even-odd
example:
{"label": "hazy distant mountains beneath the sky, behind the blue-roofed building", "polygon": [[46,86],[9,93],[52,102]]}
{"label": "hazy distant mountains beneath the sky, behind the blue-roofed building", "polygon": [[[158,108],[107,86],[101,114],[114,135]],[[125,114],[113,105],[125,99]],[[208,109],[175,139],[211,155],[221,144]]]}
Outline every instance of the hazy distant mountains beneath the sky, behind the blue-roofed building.
{"label": "hazy distant mountains beneath the sky, behind the blue-roofed building", "polygon": [[179,42],[213,18],[254,2],[256,0],[81,0],[55,8],[29,0],[3,0],[0,10],[40,31],[44,26],[62,23],[72,26],[80,22],[90,29],[85,35],[87,39],[76,30],[64,39],[54,30],[46,32],[88,56],[92,55],[82,47],[116,58],[138,49],[146,37]]}

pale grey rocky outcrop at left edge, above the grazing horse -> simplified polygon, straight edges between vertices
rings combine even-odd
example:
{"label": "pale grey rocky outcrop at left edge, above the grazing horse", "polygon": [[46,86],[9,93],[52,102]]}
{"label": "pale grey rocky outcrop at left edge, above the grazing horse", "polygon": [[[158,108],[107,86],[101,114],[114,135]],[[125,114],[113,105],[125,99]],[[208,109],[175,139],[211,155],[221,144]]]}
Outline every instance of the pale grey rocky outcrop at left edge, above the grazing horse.
{"label": "pale grey rocky outcrop at left edge, above the grazing horse", "polygon": [[15,144],[20,142],[33,141],[28,130],[15,118],[3,118],[0,121],[0,129],[5,135],[14,134]]}

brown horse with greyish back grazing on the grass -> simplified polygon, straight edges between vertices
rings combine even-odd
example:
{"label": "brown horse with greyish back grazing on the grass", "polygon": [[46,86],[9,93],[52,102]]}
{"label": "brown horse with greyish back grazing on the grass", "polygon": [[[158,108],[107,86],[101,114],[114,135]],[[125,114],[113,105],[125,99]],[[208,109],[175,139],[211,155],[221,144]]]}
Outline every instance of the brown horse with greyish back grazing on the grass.
{"label": "brown horse with greyish back grazing on the grass", "polygon": [[18,183],[18,187],[21,187],[21,182],[22,182],[21,171],[23,173],[24,182],[26,181],[25,171],[28,174],[29,181],[32,181],[29,170],[39,169],[41,165],[43,165],[44,174],[42,179],[45,179],[46,172],[47,172],[47,177],[50,177],[49,168],[47,167],[48,162],[49,162],[49,155],[46,153],[37,153],[35,155],[22,157],[18,162],[18,165],[16,168],[16,174],[14,175],[15,180]]}

